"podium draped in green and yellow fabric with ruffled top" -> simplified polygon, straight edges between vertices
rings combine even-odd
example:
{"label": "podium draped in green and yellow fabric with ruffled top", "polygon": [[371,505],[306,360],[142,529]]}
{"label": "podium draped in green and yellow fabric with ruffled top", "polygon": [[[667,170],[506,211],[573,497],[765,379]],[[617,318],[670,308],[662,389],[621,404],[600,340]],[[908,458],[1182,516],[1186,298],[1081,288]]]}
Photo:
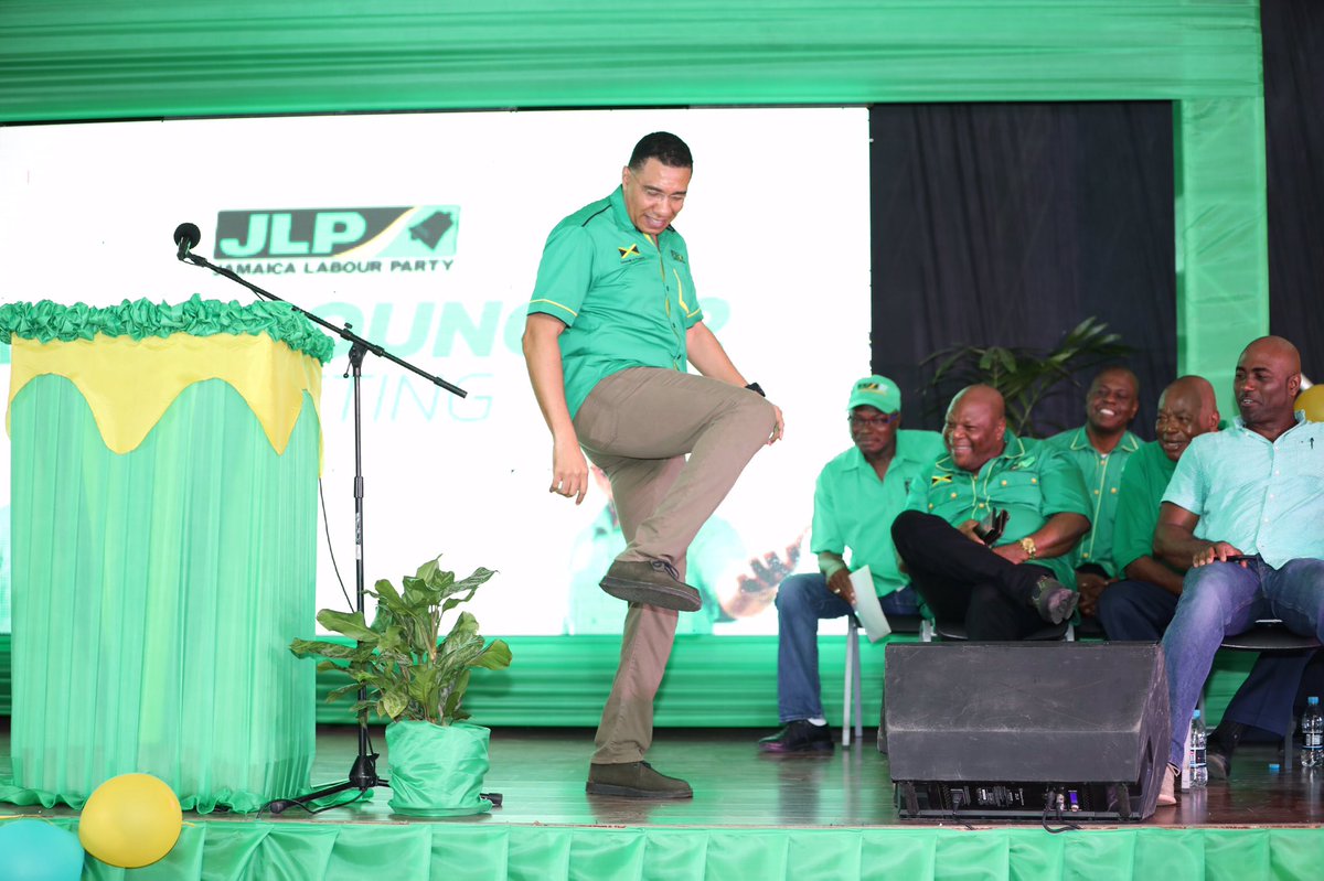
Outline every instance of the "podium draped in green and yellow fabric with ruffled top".
{"label": "podium draped in green and yellow fabric with ruffled top", "polygon": [[81,807],[154,774],[185,810],[308,784],[318,405],[332,340],[283,303],[0,307],[12,345],[13,776]]}

